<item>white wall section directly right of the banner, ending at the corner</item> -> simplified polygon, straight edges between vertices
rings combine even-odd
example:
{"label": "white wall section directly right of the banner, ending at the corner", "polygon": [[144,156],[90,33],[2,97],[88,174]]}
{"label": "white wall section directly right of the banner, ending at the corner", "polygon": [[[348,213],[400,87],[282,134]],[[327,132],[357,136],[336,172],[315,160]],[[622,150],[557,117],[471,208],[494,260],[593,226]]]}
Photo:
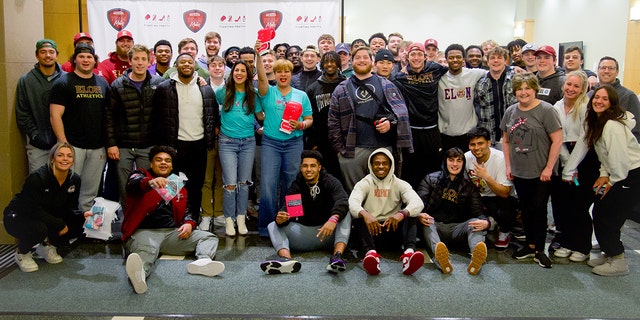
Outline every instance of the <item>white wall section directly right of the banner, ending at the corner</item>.
{"label": "white wall section directly right of the banner, ending at the corner", "polygon": [[400,32],[405,40],[438,41],[463,46],[493,39],[513,40],[516,2],[513,0],[345,0],[345,41],[365,41],[373,33]]}

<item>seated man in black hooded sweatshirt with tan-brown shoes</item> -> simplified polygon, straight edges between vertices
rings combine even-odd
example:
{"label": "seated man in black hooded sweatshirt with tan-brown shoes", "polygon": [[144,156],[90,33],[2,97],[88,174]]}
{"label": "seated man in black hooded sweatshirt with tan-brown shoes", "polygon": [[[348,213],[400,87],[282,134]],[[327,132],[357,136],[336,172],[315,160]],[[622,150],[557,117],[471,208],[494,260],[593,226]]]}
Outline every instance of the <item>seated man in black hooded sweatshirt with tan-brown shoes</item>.
{"label": "seated man in black hooded sweatshirt with tan-brown shoes", "polygon": [[[465,172],[465,156],[460,148],[445,152],[442,171],[428,174],[418,187],[426,213],[418,220],[434,264],[442,273],[451,273],[449,250],[451,245],[466,243],[472,248],[469,274],[478,274],[487,260],[484,236],[490,223],[483,215],[482,199],[478,188]],[[444,241],[444,242],[443,242]]]}

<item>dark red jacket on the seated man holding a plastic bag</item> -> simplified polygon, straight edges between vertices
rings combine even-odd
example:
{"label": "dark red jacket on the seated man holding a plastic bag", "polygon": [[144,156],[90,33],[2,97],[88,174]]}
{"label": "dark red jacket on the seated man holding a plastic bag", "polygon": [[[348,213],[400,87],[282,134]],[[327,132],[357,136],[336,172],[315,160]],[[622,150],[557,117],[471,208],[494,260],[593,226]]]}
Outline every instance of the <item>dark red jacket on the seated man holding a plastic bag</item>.
{"label": "dark red jacket on the seated man holding a plastic bag", "polygon": [[[124,221],[122,222],[122,241],[129,239],[138,229],[142,220],[158,207],[160,201],[164,201],[160,194],[149,186],[149,180],[154,178],[149,171],[144,169],[136,170],[129,177],[127,182],[127,202],[124,210]],[[195,229],[196,223],[187,210],[186,188],[180,189],[180,193],[171,199],[171,207],[176,227],[188,223]]]}

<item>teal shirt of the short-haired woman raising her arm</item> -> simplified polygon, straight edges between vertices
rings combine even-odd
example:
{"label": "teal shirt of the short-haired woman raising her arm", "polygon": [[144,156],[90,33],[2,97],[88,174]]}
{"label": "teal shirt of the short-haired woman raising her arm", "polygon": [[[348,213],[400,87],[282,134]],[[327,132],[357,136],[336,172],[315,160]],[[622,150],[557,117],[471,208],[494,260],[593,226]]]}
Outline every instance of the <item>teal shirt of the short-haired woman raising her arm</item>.
{"label": "teal shirt of the short-haired woman raising her arm", "polygon": [[291,88],[291,92],[283,96],[275,86],[269,86],[269,91],[263,97],[260,96],[260,102],[264,110],[264,128],[262,133],[275,140],[284,141],[291,138],[302,136],[302,130],[294,130],[290,134],[280,131],[280,123],[287,101],[296,101],[302,104],[302,115],[298,121],[302,121],[303,117],[311,116],[311,102],[309,97],[303,91]]}

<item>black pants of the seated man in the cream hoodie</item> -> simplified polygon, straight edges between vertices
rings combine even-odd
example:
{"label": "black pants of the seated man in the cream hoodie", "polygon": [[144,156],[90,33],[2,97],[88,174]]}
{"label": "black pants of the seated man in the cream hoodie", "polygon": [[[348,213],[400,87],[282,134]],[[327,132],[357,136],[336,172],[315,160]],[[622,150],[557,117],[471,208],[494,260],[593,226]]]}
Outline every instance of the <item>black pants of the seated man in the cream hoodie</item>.
{"label": "black pants of the seated man in the cream hoodie", "polygon": [[362,245],[362,250],[366,253],[369,250],[376,250],[378,245],[392,246],[390,249],[397,249],[402,246],[403,249],[416,248],[416,235],[418,232],[417,218],[408,218],[400,221],[395,231],[387,232],[383,229],[382,233],[375,238],[369,233],[367,224],[364,219],[353,219],[353,228],[356,239]]}

